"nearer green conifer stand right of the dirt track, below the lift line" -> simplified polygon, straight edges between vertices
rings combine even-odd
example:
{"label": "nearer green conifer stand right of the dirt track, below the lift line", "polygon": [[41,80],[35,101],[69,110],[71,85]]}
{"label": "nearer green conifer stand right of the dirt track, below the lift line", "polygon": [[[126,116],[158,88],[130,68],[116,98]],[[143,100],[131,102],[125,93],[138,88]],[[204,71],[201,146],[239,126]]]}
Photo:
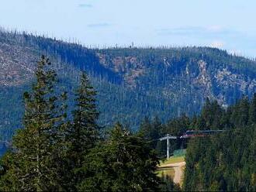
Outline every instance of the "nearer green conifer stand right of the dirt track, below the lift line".
{"label": "nearer green conifer stand right of the dirt track, below the lift line", "polygon": [[234,129],[192,140],[186,154],[184,190],[254,191],[252,132],[255,128]]}

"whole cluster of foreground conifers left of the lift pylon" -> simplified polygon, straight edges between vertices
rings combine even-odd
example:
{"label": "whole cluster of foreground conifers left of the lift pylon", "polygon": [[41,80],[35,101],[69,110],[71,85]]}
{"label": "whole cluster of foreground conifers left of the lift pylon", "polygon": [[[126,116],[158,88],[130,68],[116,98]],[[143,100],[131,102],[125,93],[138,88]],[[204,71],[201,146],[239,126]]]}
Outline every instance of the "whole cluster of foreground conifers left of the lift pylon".
{"label": "whole cluster of foreground conifers left of the lift pylon", "polygon": [[[73,119],[67,121],[67,93],[56,93],[56,74],[49,67],[42,57],[36,84],[24,94],[24,129],[0,161],[0,190],[159,190],[159,161],[148,142],[120,124],[100,142],[96,92],[85,73],[75,93]],[[155,118],[153,125],[157,130],[161,123]]]}

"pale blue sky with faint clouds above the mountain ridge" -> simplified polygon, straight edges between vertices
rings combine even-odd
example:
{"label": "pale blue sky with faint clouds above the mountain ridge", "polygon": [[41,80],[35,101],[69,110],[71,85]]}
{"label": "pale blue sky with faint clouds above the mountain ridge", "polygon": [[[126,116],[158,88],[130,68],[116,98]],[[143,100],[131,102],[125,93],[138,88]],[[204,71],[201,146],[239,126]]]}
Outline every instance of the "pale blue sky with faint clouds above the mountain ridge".
{"label": "pale blue sky with faint clouds above the mountain ridge", "polygon": [[256,57],[255,0],[2,0],[0,26],[86,46],[215,46]]}

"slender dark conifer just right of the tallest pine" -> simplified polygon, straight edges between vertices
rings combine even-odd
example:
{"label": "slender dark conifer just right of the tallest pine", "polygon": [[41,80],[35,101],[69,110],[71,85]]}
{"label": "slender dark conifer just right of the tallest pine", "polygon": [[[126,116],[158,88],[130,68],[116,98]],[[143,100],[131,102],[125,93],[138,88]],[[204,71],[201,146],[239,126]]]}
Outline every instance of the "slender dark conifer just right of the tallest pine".
{"label": "slender dark conifer just right of the tallest pine", "polygon": [[71,189],[74,189],[74,185],[85,177],[75,170],[81,168],[83,157],[99,139],[99,126],[97,125],[99,112],[95,104],[95,95],[96,92],[83,72],[80,85],[75,93],[74,120],[67,134],[67,142],[69,142],[67,158],[71,170],[69,177],[72,176],[69,180]]}

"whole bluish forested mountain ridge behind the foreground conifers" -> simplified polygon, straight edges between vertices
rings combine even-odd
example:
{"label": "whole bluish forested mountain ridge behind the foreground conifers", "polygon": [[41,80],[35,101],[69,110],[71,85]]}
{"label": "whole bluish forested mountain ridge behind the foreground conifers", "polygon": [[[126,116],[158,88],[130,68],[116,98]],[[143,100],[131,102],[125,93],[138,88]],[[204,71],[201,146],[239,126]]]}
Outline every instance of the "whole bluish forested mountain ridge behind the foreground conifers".
{"label": "whole bluish forested mountain ridge behind the foreground conifers", "polygon": [[[0,33],[0,129],[9,139],[20,128],[22,92],[33,81],[42,53],[64,89],[77,86],[86,70],[99,92],[99,122],[136,128],[145,115],[162,120],[200,111],[206,97],[230,105],[256,91],[256,62],[208,47],[88,49],[76,43]],[[69,95],[72,102],[72,95]]]}

